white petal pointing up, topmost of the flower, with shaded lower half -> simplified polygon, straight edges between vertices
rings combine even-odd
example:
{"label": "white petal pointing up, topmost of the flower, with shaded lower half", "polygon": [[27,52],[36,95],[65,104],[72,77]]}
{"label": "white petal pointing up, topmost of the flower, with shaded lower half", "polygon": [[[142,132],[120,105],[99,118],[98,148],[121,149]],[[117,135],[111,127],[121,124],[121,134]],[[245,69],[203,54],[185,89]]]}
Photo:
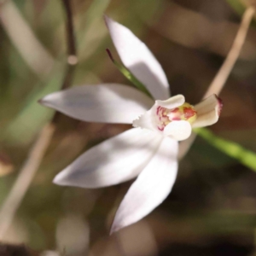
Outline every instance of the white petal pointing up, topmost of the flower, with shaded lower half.
{"label": "white petal pointing up, topmost of the flower, with shaded lower half", "polygon": [[169,84],[160,63],[154,55],[127,27],[105,16],[106,24],[120,59],[139,79],[155,99],[170,96]]}

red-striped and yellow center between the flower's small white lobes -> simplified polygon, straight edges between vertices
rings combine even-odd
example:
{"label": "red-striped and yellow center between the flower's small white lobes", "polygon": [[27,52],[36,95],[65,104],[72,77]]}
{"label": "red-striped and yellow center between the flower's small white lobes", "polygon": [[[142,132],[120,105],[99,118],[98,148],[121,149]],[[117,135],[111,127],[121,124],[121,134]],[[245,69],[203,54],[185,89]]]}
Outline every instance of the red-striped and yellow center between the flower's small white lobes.
{"label": "red-striped and yellow center between the flower's small white lobes", "polygon": [[192,125],[196,119],[196,111],[192,105],[185,102],[178,108],[168,109],[163,107],[156,108],[157,115],[157,127],[160,131],[163,131],[169,123],[172,121],[185,120]]}

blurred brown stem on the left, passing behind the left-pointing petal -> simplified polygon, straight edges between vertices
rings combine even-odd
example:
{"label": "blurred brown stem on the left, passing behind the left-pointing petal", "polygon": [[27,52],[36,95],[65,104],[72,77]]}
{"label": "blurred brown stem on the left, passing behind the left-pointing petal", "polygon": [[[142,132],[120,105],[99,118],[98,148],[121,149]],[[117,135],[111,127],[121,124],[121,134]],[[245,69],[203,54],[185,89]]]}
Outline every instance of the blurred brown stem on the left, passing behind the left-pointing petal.
{"label": "blurred brown stem on the left, passing behind the left-pointing petal", "polygon": [[[73,32],[73,15],[70,2],[69,0],[61,1],[67,13],[67,73],[61,86],[62,89],[65,89],[71,85],[74,67],[77,64],[78,59],[76,56],[75,38]],[[31,149],[31,153],[27,157],[26,163],[20,170],[20,174],[17,177],[15,184],[13,185],[6,200],[3,202],[3,206],[0,210],[0,240],[3,239],[6,231],[9,229],[9,225],[12,223],[13,218],[15,217],[15,212],[20,207],[21,201],[32,183],[32,178],[38,171],[38,167],[44,158],[44,154],[55,131],[55,125],[58,117],[59,114],[55,113],[51,122],[44,125],[37,141],[34,143]]]}

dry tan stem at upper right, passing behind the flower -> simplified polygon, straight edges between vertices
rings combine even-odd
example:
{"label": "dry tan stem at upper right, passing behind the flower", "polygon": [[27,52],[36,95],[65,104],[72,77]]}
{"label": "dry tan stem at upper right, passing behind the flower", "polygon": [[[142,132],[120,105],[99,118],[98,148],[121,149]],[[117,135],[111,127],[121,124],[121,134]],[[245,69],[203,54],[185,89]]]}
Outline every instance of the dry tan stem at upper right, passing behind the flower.
{"label": "dry tan stem at upper right, passing behind the flower", "polygon": [[[212,94],[217,94],[221,92],[224,87],[225,82],[227,81],[232,68],[234,67],[238,56],[240,55],[241,48],[245,42],[245,38],[247,36],[247,32],[250,26],[250,23],[253,19],[253,15],[255,13],[255,9],[253,7],[249,7],[246,9],[244,14],[242,15],[241,25],[236,33],[236,38],[231,46],[230,52],[227,55],[223,65],[218,70],[215,78],[212,80],[212,83],[209,85],[209,88],[204,98],[207,96],[211,96]],[[178,159],[181,160],[185,154],[189,151],[189,148],[194,143],[196,138],[195,133],[192,133],[188,140],[180,143]]]}

